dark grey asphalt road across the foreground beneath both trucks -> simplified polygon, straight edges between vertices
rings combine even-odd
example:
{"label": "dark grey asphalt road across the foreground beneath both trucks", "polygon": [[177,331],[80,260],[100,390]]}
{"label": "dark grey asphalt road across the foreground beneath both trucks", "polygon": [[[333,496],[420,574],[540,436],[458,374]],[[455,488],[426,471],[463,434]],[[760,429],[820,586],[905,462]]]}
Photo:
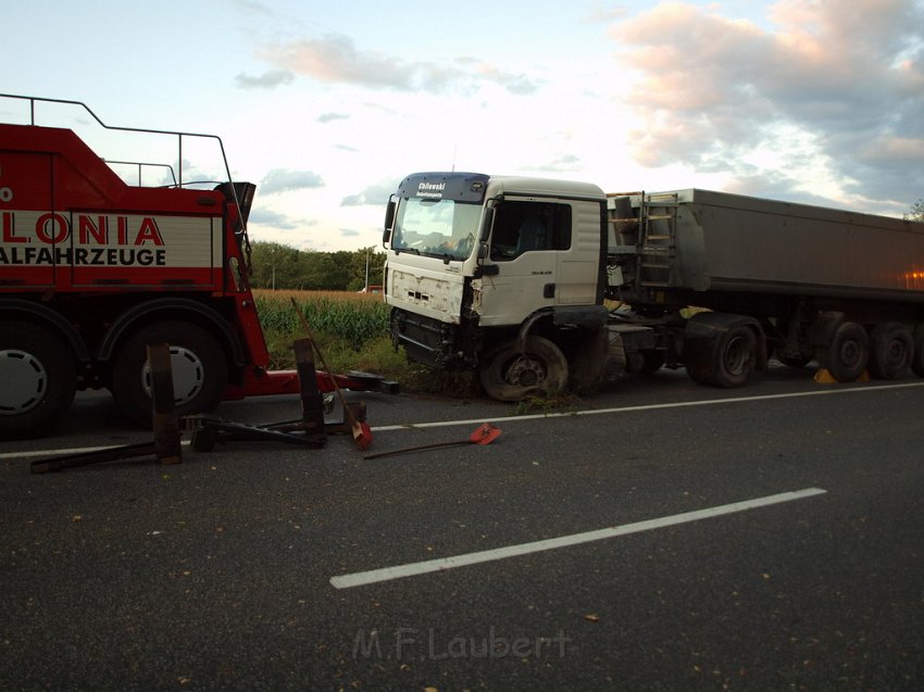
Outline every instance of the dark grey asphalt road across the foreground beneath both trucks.
{"label": "dark grey asphalt road across the foreground beneath both trucks", "polygon": [[525,418],[357,398],[378,451],[503,432],[32,475],[50,450],[146,440],[89,395],[62,433],[4,443],[0,689],[924,685],[924,381],[663,372]]}

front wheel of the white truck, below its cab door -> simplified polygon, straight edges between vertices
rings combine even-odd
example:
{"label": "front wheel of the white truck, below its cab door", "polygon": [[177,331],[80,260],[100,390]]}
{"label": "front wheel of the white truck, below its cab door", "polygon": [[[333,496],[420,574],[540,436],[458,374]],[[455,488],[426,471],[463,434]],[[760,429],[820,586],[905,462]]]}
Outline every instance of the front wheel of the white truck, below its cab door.
{"label": "front wheel of the white truck, below its cab door", "polygon": [[544,337],[528,337],[523,353],[516,340],[508,341],[487,355],[478,380],[498,401],[521,401],[540,392],[558,394],[567,383],[567,361]]}

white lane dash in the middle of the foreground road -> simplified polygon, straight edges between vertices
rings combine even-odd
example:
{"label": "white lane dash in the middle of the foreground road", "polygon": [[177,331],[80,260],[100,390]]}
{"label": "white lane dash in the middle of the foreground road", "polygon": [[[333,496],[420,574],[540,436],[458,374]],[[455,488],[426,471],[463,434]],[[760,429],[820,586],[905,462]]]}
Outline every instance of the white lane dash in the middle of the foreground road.
{"label": "white lane dash in the middle of the foreground road", "polygon": [[608,538],[615,538],[617,536],[627,536],[629,533],[639,533],[640,531],[662,529],[667,526],[688,524],[690,521],[699,521],[700,519],[710,519],[726,514],[734,514],[736,512],[746,512],[748,509],[757,509],[758,507],[765,507],[767,505],[779,504],[783,502],[792,502],[794,500],[803,500],[806,498],[821,495],[826,492],[827,490],[822,490],[821,488],[804,488],[802,490],[782,492],[775,495],[756,498],[753,500],[733,502],[731,504],[723,504],[716,507],[685,512],[683,514],[675,514],[673,516],[661,517],[659,519],[648,519],[646,521],[637,521],[635,524],[625,524],[623,526],[587,531],[586,533],[573,533],[572,536],[562,536],[542,541],[533,541],[530,543],[496,548],[494,550],[479,551],[477,553],[466,553],[464,555],[453,555],[450,557],[441,557],[439,559],[428,559],[422,563],[410,563],[407,565],[397,565],[395,567],[383,567],[382,569],[371,569],[367,571],[340,575],[337,577],[330,577],[330,584],[337,589],[352,589],[353,587],[363,587],[371,583],[377,583],[379,581],[391,581],[392,579],[414,577],[432,571],[442,571],[445,569],[453,569],[455,567],[505,559],[517,555],[527,555],[541,551],[555,550],[558,548],[579,545],[580,543],[589,543],[591,541],[601,541]]}

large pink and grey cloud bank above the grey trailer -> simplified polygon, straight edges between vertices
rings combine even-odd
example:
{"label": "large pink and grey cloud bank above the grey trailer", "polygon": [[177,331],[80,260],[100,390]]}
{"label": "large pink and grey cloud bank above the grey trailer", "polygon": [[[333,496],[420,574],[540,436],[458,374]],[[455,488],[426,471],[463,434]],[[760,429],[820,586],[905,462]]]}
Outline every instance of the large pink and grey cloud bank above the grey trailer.
{"label": "large pink and grey cloud bank above the grey trailer", "polygon": [[[779,0],[770,28],[686,2],[611,26],[629,68],[630,135],[646,166],[753,173],[791,189],[821,172],[841,197],[924,189],[924,7],[917,0]],[[758,165],[758,167],[760,167]]]}

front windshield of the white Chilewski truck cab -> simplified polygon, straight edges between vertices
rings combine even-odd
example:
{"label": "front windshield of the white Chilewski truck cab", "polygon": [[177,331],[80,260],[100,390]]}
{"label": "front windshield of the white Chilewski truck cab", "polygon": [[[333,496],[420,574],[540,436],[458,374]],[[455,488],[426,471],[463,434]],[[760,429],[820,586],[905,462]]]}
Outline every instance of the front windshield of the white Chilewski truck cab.
{"label": "front windshield of the white Chilewski truck cab", "polygon": [[391,249],[450,260],[472,254],[482,217],[480,204],[417,197],[401,200]]}

